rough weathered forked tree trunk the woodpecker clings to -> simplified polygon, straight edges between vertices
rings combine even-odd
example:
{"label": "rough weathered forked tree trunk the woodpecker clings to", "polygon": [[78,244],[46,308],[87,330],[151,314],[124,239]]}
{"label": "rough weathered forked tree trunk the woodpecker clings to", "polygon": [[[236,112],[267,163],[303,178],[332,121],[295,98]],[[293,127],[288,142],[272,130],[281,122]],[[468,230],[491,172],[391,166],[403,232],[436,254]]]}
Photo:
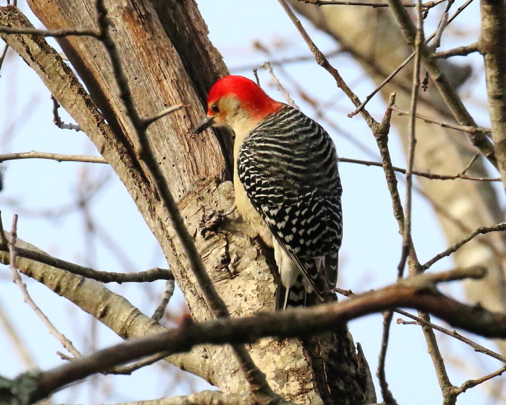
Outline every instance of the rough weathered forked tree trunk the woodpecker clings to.
{"label": "rough weathered forked tree trunk the woodpecker clings to", "polygon": [[[34,0],[29,5],[48,29],[95,26],[95,9],[88,1]],[[107,1],[106,7],[140,115],[148,117],[167,106],[185,105],[151,125],[148,137],[216,289],[233,316],[273,309],[273,276],[262,247],[250,239],[247,227],[236,217],[225,218],[219,227],[207,226],[214,213],[226,211],[233,202],[231,183],[223,182],[230,174],[226,168],[231,161],[232,142],[230,134],[223,132],[218,133],[219,138],[209,133],[197,137],[191,134],[191,128],[204,114],[201,106],[208,88],[226,74],[221,56],[207,39],[196,4],[117,0]],[[2,8],[3,25],[20,22],[13,10]],[[59,39],[90,98],[61,58],[48,51],[44,39],[29,35],[2,37],[40,75],[125,184],[171,264],[192,316],[210,319],[183,249],[149,183],[147,171],[135,156],[134,131],[124,114],[103,44],[90,37]],[[33,275],[27,266],[25,273]],[[45,275],[37,279],[49,283]],[[57,288],[59,293],[63,287]],[[284,341],[281,345],[277,340],[264,339],[249,350],[272,388],[287,399],[343,404],[375,399],[365,359],[356,354],[346,330],[305,342]],[[197,358],[201,359],[202,353],[212,365],[213,378],[209,378],[208,370],[202,375],[196,366],[193,372],[209,378],[224,392],[247,389],[228,347],[205,346],[197,352]]]}

